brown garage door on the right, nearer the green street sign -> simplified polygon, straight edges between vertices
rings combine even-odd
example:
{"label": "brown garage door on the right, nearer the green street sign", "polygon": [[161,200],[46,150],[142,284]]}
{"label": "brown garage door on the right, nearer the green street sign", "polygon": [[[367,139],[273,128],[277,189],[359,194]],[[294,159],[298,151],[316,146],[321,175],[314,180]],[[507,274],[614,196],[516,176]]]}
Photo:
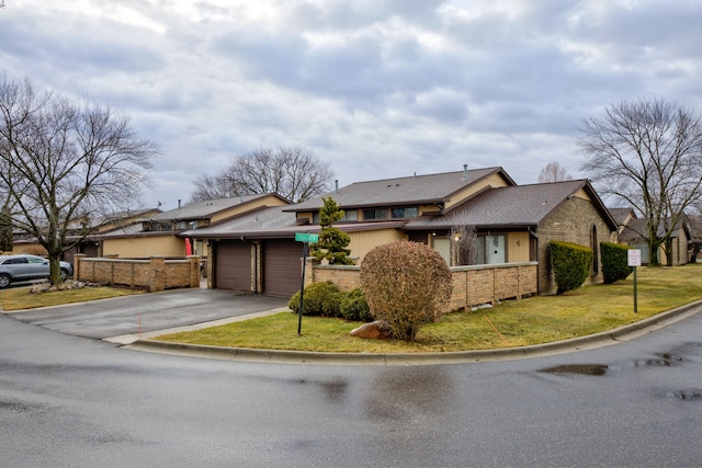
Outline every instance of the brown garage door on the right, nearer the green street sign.
{"label": "brown garage door on the right, nearer the green street sign", "polygon": [[303,244],[294,240],[268,240],[263,243],[263,293],[290,297],[302,281]]}

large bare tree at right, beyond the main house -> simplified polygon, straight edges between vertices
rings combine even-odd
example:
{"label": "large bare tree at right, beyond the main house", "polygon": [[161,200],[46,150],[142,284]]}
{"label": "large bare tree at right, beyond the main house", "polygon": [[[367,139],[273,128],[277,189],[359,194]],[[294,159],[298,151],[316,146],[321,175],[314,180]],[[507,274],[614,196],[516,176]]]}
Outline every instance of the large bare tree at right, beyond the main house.
{"label": "large bare tree at right, beyond the main house", "polygon": [[[604,196],[633,206],[646,219],[650,264],[671,252],[686,208],[700,199],[702,121],[682,105],[639,99],[610,105],[582,121],[582,169]],[[667,255],[668,262],[672,255]]]}

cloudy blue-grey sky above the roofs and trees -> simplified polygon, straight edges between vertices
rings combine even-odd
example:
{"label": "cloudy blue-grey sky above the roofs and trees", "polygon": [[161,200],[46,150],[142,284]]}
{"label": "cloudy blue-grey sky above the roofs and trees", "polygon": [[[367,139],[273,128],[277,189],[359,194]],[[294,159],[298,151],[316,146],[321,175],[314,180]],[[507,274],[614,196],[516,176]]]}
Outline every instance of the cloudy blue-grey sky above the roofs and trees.
{"label": "cloudy blue-grey sky above the roofs and trees", "polygon": [[[699,0],[0,0],[0,72],[128,115],[160,148],[143,204],[302,146],[340,186],[502,167],[575,179],[578,126],[702,111]],[[333,181],[329,181],[330,189]]]}

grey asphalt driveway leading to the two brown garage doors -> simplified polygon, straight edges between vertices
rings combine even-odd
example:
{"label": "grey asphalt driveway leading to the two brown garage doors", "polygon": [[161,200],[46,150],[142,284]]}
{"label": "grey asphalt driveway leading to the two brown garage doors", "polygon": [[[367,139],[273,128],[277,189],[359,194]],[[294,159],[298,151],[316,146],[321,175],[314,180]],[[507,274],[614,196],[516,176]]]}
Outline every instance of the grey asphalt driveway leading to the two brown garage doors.
{"label": "grey asphalt driveway leading to the two brown garage doors", "polygon": [[[199,323],[227,321],[286,308],[287,299],[224,289],[177,289],[90,303],[7,312],[61,333],[94,339],[133,336]],[[122,344],[129,338],[110,340]]]}

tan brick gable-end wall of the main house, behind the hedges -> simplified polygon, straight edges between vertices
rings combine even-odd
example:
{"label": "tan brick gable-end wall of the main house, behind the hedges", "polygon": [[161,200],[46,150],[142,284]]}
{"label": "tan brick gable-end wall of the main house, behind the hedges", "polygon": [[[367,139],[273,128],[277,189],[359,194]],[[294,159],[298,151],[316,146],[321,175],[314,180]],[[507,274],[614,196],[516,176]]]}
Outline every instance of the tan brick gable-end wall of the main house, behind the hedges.
{"label": "tan brick gable-end wall of the main house, behind the hedges", "polygon": [[[609,225],[595,208],[592,203],[580,197],[566,199],[561,206],[539,225],[539,290],[544,294],[555,293],[557,289],[553,265],[551,263],[550,242],[553,240],[573,242],[590,248],[592,246],[592,226],[597,228],[597,244],[611,242],[615,232],[610,231]],[[598,272],[591,274],[586,284],[602,282],[602,260],[598,248]]]}

